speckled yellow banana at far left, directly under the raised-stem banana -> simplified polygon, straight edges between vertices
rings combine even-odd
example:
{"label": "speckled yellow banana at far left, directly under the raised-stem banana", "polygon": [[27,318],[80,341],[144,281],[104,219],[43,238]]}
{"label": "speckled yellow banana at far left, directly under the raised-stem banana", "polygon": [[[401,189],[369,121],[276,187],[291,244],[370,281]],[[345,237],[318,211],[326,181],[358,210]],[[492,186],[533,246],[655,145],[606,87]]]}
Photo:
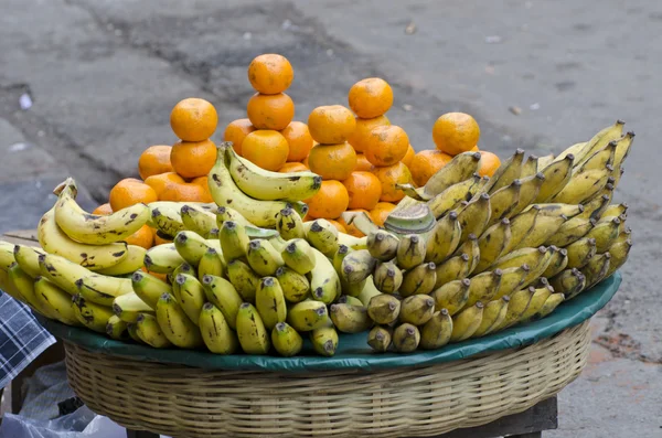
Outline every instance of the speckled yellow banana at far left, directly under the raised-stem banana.
{"label": "speckled yellow banana at far left, directly under the raised-stem banana", "polygon": [[36,231],[39,244],[46,253],[58,255],[92,270],[115,266],[128,255],[127,244],[124,242],[87,245],[73,241],[57,226],[54,207],[42,216]]}

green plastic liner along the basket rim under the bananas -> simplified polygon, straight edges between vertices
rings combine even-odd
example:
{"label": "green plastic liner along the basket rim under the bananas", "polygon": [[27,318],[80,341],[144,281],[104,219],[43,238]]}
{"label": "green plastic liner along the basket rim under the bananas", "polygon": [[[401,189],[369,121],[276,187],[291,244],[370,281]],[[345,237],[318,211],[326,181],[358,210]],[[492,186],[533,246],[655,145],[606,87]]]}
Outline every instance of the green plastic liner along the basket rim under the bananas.
{"label": "green plastic liner along the basket rim under the bananas", "polygon": [[533,344],[592,317],[609,302],[618,290],[620,282],[621,276],[616,273],[590,290],[562,303],[552,314],[542,320],[513,327],[484,338],[448,344],[439,350],[419,351],[410,354],[373,353],[366,342],[367,332],[364,332],[359,334],[341,333],[338,351],[333,357],[316,355],[308,340],[306,340],[301,355],[296,357],[247,354],[216,355],[202,350],[157,350],[136,343],[110,340],[89,330],[68,327],[51,320],[41,319],[41,321],[54,336],[78,344],[88,351],[127,356],[138,361],[235,371],[295,373],[352,368],[375,371],[403,366],[434,365],[480,353]]}

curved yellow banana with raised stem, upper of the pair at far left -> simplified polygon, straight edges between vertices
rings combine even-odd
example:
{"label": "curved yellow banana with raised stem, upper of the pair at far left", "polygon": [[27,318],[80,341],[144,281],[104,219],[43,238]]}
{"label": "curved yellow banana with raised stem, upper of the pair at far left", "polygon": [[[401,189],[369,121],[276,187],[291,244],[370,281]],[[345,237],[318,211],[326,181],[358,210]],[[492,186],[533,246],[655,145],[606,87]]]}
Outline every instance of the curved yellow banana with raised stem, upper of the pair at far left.
{"label": "curved yellow banana with raised stem, upper of the pair at far left", "polygon": [[55,223],[71,239],[87,245],[107,245],[120,242],[136,233],[147,223],[149,209],[135,204],[107,216],[90,214],[76,202],[78,190],[72,178],[67,178],[54,193]]}

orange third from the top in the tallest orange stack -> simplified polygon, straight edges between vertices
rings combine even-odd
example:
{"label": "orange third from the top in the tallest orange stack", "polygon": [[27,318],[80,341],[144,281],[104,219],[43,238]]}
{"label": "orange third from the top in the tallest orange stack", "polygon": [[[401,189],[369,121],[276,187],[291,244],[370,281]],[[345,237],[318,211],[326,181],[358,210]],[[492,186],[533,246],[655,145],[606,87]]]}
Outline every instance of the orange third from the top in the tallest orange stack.
{"label": "orange third from the top in the tallest orange stack", "polygon": [[278,171],[287,161],[289,146],[278,131],[253,131],[244,139],[242,146],[244,158],[263,169]]}

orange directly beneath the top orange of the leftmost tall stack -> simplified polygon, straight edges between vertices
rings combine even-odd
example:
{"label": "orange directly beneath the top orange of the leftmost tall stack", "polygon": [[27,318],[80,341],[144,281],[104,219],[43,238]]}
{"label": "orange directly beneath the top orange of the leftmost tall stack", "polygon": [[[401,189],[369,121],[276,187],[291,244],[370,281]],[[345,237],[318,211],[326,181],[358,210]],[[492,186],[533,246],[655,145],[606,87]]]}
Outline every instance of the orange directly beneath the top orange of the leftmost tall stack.
{"label": "orange directly beneath the top orange of the leftmost tall stack", "polygon": [[180,177],[205,177],[216,161],[216,145],[212,140],[180,141],[172,147],[170,161]]}

